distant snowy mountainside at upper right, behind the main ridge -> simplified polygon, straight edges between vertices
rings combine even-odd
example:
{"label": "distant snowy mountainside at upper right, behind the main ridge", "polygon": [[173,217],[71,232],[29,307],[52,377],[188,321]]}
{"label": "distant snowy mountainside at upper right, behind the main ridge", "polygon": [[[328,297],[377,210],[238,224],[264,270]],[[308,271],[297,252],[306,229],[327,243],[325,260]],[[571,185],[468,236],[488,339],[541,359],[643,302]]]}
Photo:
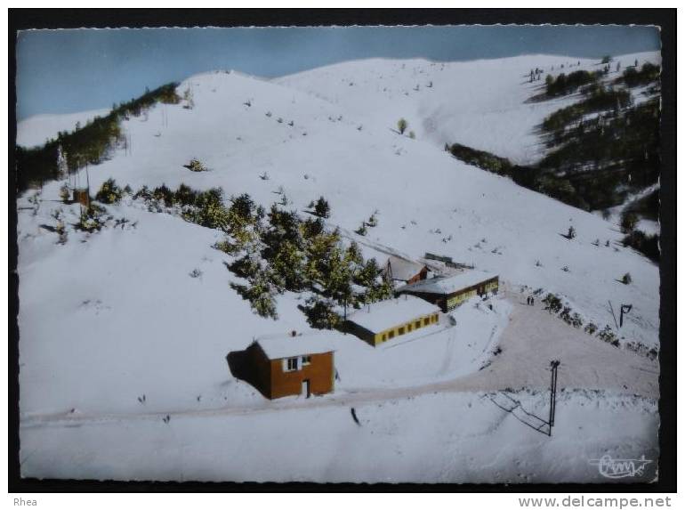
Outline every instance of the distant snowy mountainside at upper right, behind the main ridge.
{"label": "distant snowy mountainside at upper right, behind the main ridge", "polygon": [[[614,72],[617,62],[625,69],[635,59],[640,65],[661,61],[659,53],[621,55],[614,58],[609,78],[618,76]],[[579,98],[574,94],[550,101],[528,100],[544,91],[547,74],[593,71],[600,69],[598,62],[556,55],[444,63],[370,59],[275,81],[346,109],[360,124],[396,129],[399,117],[404,117],[417,138],[439,148],[458,142],[528,164],[542,155],[536,125]],[[536,68],[543,69],[544,75],[530,83],[528,73]]]}

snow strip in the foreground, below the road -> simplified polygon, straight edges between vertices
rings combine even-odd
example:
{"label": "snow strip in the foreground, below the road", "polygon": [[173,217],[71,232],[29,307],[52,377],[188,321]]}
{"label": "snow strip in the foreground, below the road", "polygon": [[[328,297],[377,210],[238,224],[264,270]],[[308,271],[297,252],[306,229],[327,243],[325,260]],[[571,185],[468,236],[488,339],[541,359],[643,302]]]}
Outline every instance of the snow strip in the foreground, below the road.
{"label": "snow strip in the foreground, below the road", "polygon": [[[546,416],[548,394],[511,393]],[[39,478],[236,482],[607,482],[593,458],[657,458],[656,403],[561,392],[552,437],[494,393],[436,393],[349,407],[22,429]],[[636,420],[635,417],[642,417]],[[649,482],[654,464],[646,472]],[[625,479],[624,479],[625,482]]]}

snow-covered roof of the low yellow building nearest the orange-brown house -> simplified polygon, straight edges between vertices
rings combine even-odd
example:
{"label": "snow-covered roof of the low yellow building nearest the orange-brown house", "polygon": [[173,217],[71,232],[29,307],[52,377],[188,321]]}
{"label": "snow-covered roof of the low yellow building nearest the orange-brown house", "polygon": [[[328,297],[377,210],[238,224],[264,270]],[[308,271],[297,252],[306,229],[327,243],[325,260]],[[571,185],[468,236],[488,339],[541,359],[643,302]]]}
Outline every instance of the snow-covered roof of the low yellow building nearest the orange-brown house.
{"label": "snow-covered roof of the low yellow building nearest the orange-brown house", "polygon": [[434,304],[414,295],[402,295],[397,299],[367,304],[361,310],[348,315],[347,320],[377,333],[439,310]]}

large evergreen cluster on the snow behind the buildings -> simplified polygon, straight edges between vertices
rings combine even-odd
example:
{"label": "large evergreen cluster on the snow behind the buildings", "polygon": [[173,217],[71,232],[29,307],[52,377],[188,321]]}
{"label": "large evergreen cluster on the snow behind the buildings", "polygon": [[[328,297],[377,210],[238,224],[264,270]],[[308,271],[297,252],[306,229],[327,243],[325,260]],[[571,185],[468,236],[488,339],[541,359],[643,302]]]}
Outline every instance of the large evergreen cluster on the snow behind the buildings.
{"label": "large evergreen cluster on the snow behind the buildings", "polygon": [[[266,212],[246,193],[226,206],[220,188],[197,191],[185,184],[177,190],[143,187],[133,198],[176,207],[186,221],[223,231],[225,238],[215,247],[232,255],[230,271],[247,279],[247,285],[231,287],[263,317],[278,317],[276,295],[310,292],[302,312],[312,327],[334,328],[338,307],[359,308],[392,296],[375,259],[365,261],[354,242],[345,246],[340,231],[326,231],[321,217],[302,220],[280,204]],[[315,204],[327,206],[323,197]],[[319,212],[324,212],[320,206]]]}

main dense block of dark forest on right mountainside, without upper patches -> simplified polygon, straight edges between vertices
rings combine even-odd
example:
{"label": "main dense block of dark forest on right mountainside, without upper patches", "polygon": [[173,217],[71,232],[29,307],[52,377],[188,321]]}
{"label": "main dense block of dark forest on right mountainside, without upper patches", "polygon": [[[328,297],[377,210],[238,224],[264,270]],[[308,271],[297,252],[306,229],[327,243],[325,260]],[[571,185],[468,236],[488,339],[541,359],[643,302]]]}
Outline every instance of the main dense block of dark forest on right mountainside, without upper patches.
{"label": "main dense block of dark forest on right mountainside, without upper patches", "polygon": [[[658,101],[620,114],[608,113],[557,134],[552,150],[535,166],[514,165],[485,150],[459,143],[449,152],[463,162],[511,177],[587,211],[622,204],[629,193],[655,184],[660,174]],[[640,215],[656,218],[658,201],[641,202]]]}

